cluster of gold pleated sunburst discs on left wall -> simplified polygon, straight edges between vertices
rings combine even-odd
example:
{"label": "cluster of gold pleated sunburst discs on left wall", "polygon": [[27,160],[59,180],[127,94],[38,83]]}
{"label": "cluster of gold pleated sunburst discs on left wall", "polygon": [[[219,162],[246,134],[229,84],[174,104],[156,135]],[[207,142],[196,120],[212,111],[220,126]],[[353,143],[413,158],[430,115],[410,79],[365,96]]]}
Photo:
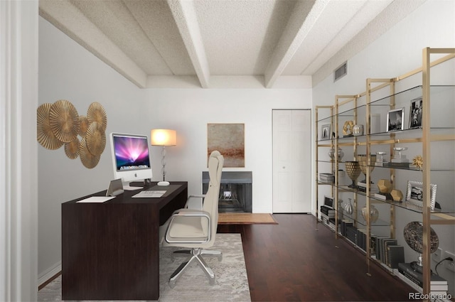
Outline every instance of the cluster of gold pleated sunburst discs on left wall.
{"label": "cluster of gold pleated sunburst discs on left wall", "polygon": [[41,104],[36,109],[36,139],[49,150],[64,146],[70,159],[80,158],[86,168],[95,168],[106,147],[107,115],[99,102],[92,102],[87,115],[79,115],[66,99]]}

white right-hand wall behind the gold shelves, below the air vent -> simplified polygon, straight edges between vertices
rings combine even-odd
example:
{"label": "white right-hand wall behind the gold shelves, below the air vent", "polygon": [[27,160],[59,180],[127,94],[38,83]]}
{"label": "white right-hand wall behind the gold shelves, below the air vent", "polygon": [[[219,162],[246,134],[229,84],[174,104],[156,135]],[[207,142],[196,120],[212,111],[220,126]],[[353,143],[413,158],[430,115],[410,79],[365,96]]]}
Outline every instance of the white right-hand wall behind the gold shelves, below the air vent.
{"label": "white right-hand wall behind the gold shelves, below the air vent", "polygon": [[[390,31],[370,44],[363,51],[348,60],[348,75],[333,83],[333,77],[327,77],[319,85],[316,85],[313,90],[314,104],[334,104],[335,95],[357,95],[366,90],[366,78],[392,78],[404,75],[411,70],[422,66],[422,49],[425,47],[431,48],[454,48],[455,47],[455,1],[438,1],[428,0],[422,6],[414,11],[410,16],[397,23]],[[432,60],[438,58],[433,55]],[[455,84],[455,63],[451,60],[432,71],[433,85],[454,85]],[[422,85],[422,73],[413,77],[407,78],[397,83],[396,91],[402,91]],[[406,109],[407,110],[407,109]],[[451,121],[455,112],[447,110],[444,112],[446,119]],[[443,114],[444,114],[443,113]],[[406,111],[409,114],[409,111]],[[415,148],[415,144],[414,144]],[[417,146],[419,148],[419,146]],[[441,151],[441,150],[439,150]],[[412,158],[415,154],[414,150],[407,153]],[[433,150],[436,153],[438,150]],[[417,152],[417,154],[422,152]],[[453,153],[449,151],[453,158]],[[348,155],[347,155],[348,156]],[[352,153],[350,154],[352,156]],[[347,157],[343,158],[343,160]],[[444,161],[446,156],[432,156],[433,164],[437,164],[437,160]],[[448,162],[453,162],[449,159]],[[439,162],[439,164],[441,164]],[[444,166],[444,164],[442,165]],[[376,169],[380,170],[380,169]],[[378,171],[375,171],[378,173]],[[398,171],[400,172],[400,171]],[[397,173],[398,173],[397,172]],[[419,176],[410,176],[419,177]],[[420,176],[421,177],[421,176]],[[405,176],[407,178],[407,176]],[[405,182],[397,177],[397,188],[405,192]],[[453,203],[453,176],[449,179],[448,184],[444,184],[445,180],[439,181],[440,192],[437,198],[440,200],[449,200]],[[451,181],[451,184],[450,184]],[[320,190],[324,188],[320,186]],[[451,188],[450,190],[443,190]],[[443,193],[444,192],[444,193]],[[327,192],[330,194],[330,192]],[[320,194],[320,196],[323,193]],[[397,209],[397,225],[396,235],[399,244],[404,245],[406,261],[414,261],[417,258],[417,253],[407,247],[404,241],[402,231],[407,224],[412,220],[421,220],[422,216],[417,213],[407,210]],[[439,247],[443,251],[455,251],[454,226],[434,226],[439,235]],[[375,232],[373,230],[373,232]],[[432,266],[434,269],[434,261]],[[449,291],[454,295],[454,274],[450,273],[442,266],[439,266],[439,274],[449,280]]]}

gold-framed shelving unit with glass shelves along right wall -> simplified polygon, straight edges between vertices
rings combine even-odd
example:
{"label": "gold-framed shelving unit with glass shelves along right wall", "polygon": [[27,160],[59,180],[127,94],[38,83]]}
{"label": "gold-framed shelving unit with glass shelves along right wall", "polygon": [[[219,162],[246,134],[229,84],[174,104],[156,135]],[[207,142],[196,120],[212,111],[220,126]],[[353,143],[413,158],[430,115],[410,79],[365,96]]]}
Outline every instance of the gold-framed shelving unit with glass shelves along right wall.
{"label": "gold-framed shelving unit with glass shelves along right wall", "polygon": [[[439,58],[437,60],[431,61],[431,55],[438,55]],[[445,131],[432,131],[432,124],[431,124],[431,109],[432,107],[436,106],[432,104],[432,86],[430,85],[430,72],[431,68],[446,63],[449,60],[453,60],[455,58],[455,48],[424,48],[422,50],[422,67],[407,72],[405,75],[400,75],[399,77],[391,78],[391,79],[373,79],[368,78],[366,80],[366,90],[358,95],[336,95],[335,102],[333,106],[319,106],[316,107],[316,217],[318,217],[318,210],[319,210],[319,185],[331,185],[331,193],[333,195],[333,207],[335,207],[335,234],[338,237],[338,195],[342,192],[349,191],[349,189],[339,185],[338,182],[338,168],[340,165],[343,165],[343,161],[338,162],[337,151],[339,147],[344,149],[352,149],[353,151],[353,160],[356,159],[358,154],[358,148],[362,146],[363,150],[365,150],[365,154],[370,154],[372,149],[377,149],[378,146],[388,146],[389,154],[392,155],[393,148],[397,144],[412,144],[412,148],[415,148],[415,151],[418,151],[420,146],[422,148],[422,158],[423,166],[422,168],[404,168],[402,170],[407,171],[420,171],[422,173],[422,183],[423,183],[423,199],[422,199],[422,210],[415,210],[408,207],[404,202],[390,202],[386,200],[378,200],[374,198],[373,193],[370,192],[370,183],[373,180],[372,176],[370,175],[370,169],[366,168],[366,192],[360,193],[360,195],[365,195],[365,207],[366,212],[370,212],[370,208],[373,203],[380,203],[382,205],[387,205],[390,208],[390,217],[387,217],[389,220],[390,225],[390,238],[395,238],[395,216],[397,215],[397,207],[404,208],[406,210],[412,210],[413,212],[418,212],[422,215],[422,223],[423,223],[423,286],[422,286],[422,293],[428,294],[430,293],[430,267],[431,267],[431,259],[430,259],[430,227],[432,225],[455,225],[455,202],[453,205],[449,206],[449,210],[446,211],[438,211],[432,210],[430,205],[430,186],[432,183],[431,180],[431,171],[432,171],[432,162],[431,162],[431,146],[434,142],[444,142],[444,141],[455,141],[455,127],[449,126]],[[407,79],[408,77],[414,76],[422,73],[422,85],[418,87],[412,87],[411,89],[405,90],[403,92],[395,92],[397,82]],[[449,87],[452,87],[449,86]],[[455,88],[450,88],[454,89]],[[395,132],[381,132],[381,133],[373,133],[371,126],[372,126],[372,117],[375,110],[378,110],[378,105],[383,106],[381,110],[392,110],[395,109],[397,106],[397,99],[396,97],[403,97],[400,95],[402,93],[410,95],[420,92],[421,90],[421,97],[422,97],[422,129],[416,130],[412,129],[412,131],[395,131]],[[373,93],[382,93],[385,97],[380,99],[373,99]],[[363,101],[360,102],[360,99]],[[346,111],[343,111],[341,108],[348,107]],[[360,110],[361,109],[361,110]],[[323,116],[324,118],[321,119],[319,117],[319,112],[321,110],[325,110],[326,114]],[[361,111],[359,115],[359,110]],[[342,139],[341,134],[339,133],[339,129],[341,126],[340,119],[343,117],[343,114],[350,114],[352,116],[353,121],[355,124],[363,124],[365,123],[364,127],[364,135],[361,137],[354,136],[352,139]],[[362,120],[362,117],[365,118],[365,121]],[[402,121],[404,122],[404,121]],[[330,123],[333,125],[331,131],[334,132],[334,137],[331,135],[331,139],[327,141],[321,141],[319,139],[319,131],[321,130],[321,124],[328,124]],[[444,128],[444,127],[441,127]],[[406,133],[407,132],[407,133]],[[403,134],[405,133],[405,134]],[[407,135],[410,134],[410,135]],[[455,144],[455,143],[454,143]],[[414,147],[415,146],[415,147]],[[321,183],[319,181],[319,164],[321,164],[321,159],[319,158],[319,153],[328,150],[328,148],[333,148],[335,150],[335,156],[333,161],[331,162],[331,170],[335,176],[335,180],[333,184],[331,183]],[[369,157],[369,156],[368,156]],[[374,166],[374,163],[369,163],[369,165]],[[392,183],[392,187],[395,188],[396,183],[396,173],[397,167],[387,167],[389,169],[389,177]],[[416,172],[417,173],[417,172]],[[452,180],[454,180],[455,173],[452,173]],[[453,181],[455,182],[455,180]],[[359,192],[355,190],[351,190],[354,194],[354,215],[352,220],[355,223],[358,222],[357,217],[357,198]],[[369,215],[365,217],[365,225],[366,225],[366,242],[367,246],[365,249],[366,254],[366,261],[368,264],[368,272],[367,274],[370,275],[370,262],[376,261],[371,254],[371,234],[372,234],[372,223],[370,222]],[[318,220],[316,220],[318,221]],[[317,222],[316,222],[317,228]]]}

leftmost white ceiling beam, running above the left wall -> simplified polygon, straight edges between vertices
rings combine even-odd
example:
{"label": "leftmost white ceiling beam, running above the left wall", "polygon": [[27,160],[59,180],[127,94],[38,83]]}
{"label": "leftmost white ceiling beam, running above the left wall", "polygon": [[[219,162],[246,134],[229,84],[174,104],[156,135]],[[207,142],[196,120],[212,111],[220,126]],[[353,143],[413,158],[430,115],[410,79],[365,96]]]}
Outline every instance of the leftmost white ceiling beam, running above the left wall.
{"label": "leftmost white ceiling beam, running above the left wall", "polygon": [[70,1],[40,0],[39,14],[139,88],[147,75]]}

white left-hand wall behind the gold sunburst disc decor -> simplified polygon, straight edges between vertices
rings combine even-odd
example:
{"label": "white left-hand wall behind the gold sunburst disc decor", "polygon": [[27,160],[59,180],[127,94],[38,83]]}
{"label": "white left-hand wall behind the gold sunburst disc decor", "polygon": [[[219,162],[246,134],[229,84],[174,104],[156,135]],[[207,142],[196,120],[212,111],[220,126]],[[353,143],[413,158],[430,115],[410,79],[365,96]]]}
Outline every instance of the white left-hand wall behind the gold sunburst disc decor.
{"label": "white left-hand wall behind the gold sunburst disc decor", "polygon": [[[148,134],[141,125],[144,92],[87,50],[39,18],[39,104],[68,99],[87,116],[92,102],[107,112],[107,130]],[[95,168],[71,160],[63,147],[38,145],[38,277],[45,281],[60,271],[60,204],[105,190],[113,178],[109,146]],[[107,144],[109,139],[107,138]],[[41,282],[40,282],[41,283]]]}

